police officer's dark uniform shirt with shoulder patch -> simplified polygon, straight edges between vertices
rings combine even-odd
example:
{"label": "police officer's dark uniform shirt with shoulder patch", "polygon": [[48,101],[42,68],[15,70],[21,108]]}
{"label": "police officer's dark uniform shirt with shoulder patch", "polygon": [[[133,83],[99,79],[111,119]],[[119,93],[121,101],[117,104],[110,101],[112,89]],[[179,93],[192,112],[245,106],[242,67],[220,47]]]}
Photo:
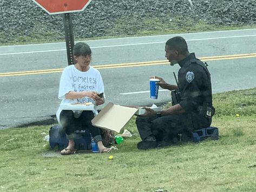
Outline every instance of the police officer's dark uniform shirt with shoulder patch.
{"label": "police officer's dark uniform shirt with shoulder patch", "polygon": [[[190,54],[179,62],[178,74],[179,91],[181,92],[180,105],[186,112],[198,114],[198,107],[208,104],[212,107],[211,76],[205,64]],[[206,118],[203,117],[202,118]]]}

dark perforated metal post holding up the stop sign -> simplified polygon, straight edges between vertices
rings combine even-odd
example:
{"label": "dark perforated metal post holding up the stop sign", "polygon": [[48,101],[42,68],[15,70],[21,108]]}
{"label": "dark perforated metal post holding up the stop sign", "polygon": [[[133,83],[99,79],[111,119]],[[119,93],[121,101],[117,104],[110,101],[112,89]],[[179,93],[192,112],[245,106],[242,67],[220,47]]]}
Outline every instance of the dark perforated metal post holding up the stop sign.
{"label": "dark perforated metal post holding up the stop sign", "polygon": [[64,30],[65,30],[65,41],[66,41],[66,48],[67,48],[67,56],[68,56],[68,65],[75,64],[73,58],[73,47],[74,43],[74,32],[73,32],[73,25],[71,14],[64,14]]}

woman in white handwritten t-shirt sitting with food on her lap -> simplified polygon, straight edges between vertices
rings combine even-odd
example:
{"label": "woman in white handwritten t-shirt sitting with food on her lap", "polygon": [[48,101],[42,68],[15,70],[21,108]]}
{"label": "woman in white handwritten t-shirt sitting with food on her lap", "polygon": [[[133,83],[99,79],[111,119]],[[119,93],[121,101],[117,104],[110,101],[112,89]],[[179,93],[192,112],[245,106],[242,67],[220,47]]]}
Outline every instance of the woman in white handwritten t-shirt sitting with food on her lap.
{"label": "woman in white handwritten t-shirt sitting with food on her lap", "polygon": [[[91,49],[88,44],[79,42],[73,48],[73,55],[77,61],[74,65],[66,67],[61,75],[58,98],[64,103],[104,103],[104,85],[100,72],[90,66]],[[68,147],[61,151],[61,155],[70,155],[75,152],[76,130],[89,129],[101,153],[110,149],[102,143],[101,131],[91,124],[95,111],[91,110],[61,110],[56,116],[68,138]]]}

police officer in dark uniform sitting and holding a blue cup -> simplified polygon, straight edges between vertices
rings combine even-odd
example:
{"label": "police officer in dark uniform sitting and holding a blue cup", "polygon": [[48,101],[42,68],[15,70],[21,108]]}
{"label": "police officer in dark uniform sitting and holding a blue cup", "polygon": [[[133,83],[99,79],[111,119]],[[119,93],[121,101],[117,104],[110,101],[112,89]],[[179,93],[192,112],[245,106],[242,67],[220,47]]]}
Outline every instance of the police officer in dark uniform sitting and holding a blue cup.
{"label": "police officer in dark uniform sitting and holding a blue cup", "polygon": [[[172,107],[161,112],[145,108],[136,118],[142,141],[138,149],[150,149],[178,141],[181,134],[190,136],[192,130],[209,127],[214,115],[211,76],[204,64],[189,54],[185,39],[173,37],[166,42],[166,58],[170,65],[179,63],[178,85],[168,84],[161,77],[159,86],[172,91]],[[175,77],[176,78],[176,77]]]}

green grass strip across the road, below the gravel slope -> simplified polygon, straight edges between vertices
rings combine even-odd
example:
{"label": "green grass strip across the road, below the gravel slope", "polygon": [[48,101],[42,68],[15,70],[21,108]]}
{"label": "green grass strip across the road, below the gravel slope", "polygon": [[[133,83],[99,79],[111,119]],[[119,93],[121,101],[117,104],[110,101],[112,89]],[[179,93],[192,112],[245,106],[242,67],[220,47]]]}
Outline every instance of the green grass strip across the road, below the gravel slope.
{"label": "green grass strip across the road, below the gravel slope", "polygon": [[[204,20],[182,15],[169,15],[164,18],[146,15],[140,17],[130,15],[129,18],[121,17],[113,21],[114,27],[106,28],[103,36],[93,38],[75,38],[75,41],[86,41],[92,39],[119,38],[147,35],[166,35],[177,33],[191,33],[202,31],[234,30],[234,29],[253,29],[256,25],[237,24],[237,25],[216,25],[208,24]],[[12,39],[5,38],[6,34],[0,32],[0,45],[29,44],[29,43],[52,43],[64,42],[64,31],[51,29],[45,30],[41,23],[36,23],[35,27],[27,32],[22,32]]]}

